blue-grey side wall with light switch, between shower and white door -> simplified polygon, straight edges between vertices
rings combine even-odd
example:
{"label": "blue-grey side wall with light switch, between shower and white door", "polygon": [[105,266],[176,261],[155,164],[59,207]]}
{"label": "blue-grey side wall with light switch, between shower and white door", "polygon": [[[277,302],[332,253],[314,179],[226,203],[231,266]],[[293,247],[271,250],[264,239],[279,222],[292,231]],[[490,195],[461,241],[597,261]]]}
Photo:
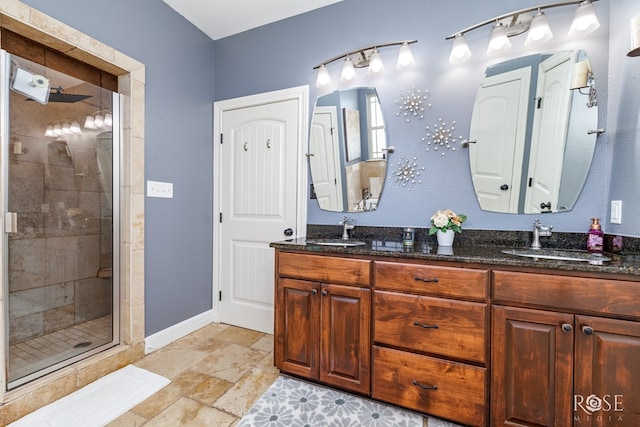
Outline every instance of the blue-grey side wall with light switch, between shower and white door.
{"label": "blue-grey side wall with light switch, between shower and white door", "polygon": [[214,42],[161,0],[25,3],[145,64],[145,335],[210,310]]}

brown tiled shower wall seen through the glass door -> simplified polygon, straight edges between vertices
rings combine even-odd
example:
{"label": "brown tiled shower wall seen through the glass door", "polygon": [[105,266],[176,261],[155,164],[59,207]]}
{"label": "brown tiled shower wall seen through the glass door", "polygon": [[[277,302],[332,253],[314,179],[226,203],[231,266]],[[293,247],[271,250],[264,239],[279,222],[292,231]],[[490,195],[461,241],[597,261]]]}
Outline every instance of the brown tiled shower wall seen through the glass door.
{"label": "brown tiled shower wall seen through the glass door", "polygon": [[13,93],[11,102],[8,207],[18,212],[18,232],[9,235],[13,345],[111,313],[112,210],[102,194],[96,131],[44,136],[49,122],[82,124],[83,114],[97,108],[45,108]]}

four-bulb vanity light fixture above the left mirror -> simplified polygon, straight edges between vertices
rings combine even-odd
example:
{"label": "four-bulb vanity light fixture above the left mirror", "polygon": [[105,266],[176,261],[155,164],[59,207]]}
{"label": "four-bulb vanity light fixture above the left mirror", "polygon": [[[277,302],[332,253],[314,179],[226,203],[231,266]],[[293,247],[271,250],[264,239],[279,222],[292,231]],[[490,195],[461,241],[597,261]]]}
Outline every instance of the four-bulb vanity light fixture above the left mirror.
{"label": "four-bulb vanity light fixture above the left mirror", "polygon": [[400,46],[396,68],[404,69],[410,67],[411,65],[415,64],[415,60],[413,58],[413,54],[411,53],[411,48],[409,47],[409,45],[416,42],[417,40],[403,40],[392,43],[381,43],[363,47],[357,50],[352,50],[350,52],[345,52],[341,55],[334,56],[331,59],[327,59],[326,61],[313,67],[314,70],[318,70],[316,87],[318,89],[322,89],[331,84],[331,76],[329,76],[327,65],[343,58],[344,62],[342,64],[342,73],[340,75],[341,82],[349,82],[354,80],[356,78],[356,68],[369,67],[369,69],[367,70],[367,75],[370,77],[380,75],[382,72],[384,72],[384,64],[382,62],[382,57],[380,55],[379,49],[385,47]]}

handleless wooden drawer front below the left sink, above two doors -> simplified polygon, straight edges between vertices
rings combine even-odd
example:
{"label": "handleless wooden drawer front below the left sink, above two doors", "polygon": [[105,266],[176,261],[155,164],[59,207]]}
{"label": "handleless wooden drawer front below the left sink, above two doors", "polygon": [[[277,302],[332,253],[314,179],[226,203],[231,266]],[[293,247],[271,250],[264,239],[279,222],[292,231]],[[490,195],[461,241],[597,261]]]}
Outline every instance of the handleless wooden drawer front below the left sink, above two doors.
{"label": "handleless wooden drawer front below the left sink, above two doors", "polygon": [[369,286],[371,261],[322,255],[279,252],[278,274],[281,277]]}

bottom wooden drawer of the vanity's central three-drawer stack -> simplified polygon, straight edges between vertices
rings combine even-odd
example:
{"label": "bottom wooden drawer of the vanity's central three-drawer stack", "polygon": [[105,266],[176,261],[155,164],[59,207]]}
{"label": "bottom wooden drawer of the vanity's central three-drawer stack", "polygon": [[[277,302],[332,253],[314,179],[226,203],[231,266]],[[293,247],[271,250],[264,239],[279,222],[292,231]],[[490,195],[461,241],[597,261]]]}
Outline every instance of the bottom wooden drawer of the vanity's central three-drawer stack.
{"label": "bottom wooden drawer of the vanity's central three-drawer stack", "polygon": [[[486,424],[484,368],[374,346],[372,378],[374,399],[462,424]],[[437,389],[423,388],[430,386]]]}

